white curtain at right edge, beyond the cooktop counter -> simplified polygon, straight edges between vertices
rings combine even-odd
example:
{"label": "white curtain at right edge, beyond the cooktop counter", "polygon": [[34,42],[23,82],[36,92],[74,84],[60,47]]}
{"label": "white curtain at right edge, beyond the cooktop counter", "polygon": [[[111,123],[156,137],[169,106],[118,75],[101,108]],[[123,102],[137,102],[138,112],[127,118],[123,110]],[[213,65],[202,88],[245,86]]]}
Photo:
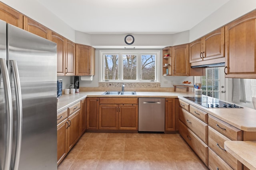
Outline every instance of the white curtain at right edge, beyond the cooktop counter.
{"label": "white curtain at right edge, beyond the cooktop counter", "polygon": [[[254,79],[233,78],[232,102],[252,102],[252,94],[256,93],[253,83],[255,84]],[[254,87],[253,90],[252,87]]]}

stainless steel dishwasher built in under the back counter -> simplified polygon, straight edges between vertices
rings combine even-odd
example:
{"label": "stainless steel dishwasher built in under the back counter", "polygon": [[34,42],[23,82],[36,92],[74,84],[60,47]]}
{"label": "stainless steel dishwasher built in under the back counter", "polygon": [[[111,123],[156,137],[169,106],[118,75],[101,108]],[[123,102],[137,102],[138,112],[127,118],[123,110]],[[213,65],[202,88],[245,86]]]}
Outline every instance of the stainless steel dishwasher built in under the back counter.
{"label": "stainless steel dishwasher built in under the back counter", "polygon": [[139,132],[164,132],[164,98],[139,98]]}

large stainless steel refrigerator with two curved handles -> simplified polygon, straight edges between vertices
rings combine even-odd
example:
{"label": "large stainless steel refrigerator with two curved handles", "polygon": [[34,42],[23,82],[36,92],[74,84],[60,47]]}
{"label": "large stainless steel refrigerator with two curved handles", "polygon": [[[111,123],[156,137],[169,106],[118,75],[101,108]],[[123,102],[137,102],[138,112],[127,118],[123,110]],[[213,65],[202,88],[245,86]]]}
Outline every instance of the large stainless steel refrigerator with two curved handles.
{"label": "large stainless steel refrigerator with two curved handles", "polygon": [[56,43],[0,20],[0,170],[57,169]]}

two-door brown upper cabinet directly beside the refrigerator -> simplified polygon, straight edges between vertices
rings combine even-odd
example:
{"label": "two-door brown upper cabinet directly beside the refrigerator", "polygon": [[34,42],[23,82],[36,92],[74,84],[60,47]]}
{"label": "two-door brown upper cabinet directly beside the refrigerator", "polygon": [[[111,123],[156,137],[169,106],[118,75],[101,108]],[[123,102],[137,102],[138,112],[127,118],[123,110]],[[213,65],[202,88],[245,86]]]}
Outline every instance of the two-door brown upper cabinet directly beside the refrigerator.
{"label": "two-door brown upper cabinet directly beside the refrigerator", "polygon": [[53,31],[50,38],[57,43],[57,76],[74,76],[75,43]]}

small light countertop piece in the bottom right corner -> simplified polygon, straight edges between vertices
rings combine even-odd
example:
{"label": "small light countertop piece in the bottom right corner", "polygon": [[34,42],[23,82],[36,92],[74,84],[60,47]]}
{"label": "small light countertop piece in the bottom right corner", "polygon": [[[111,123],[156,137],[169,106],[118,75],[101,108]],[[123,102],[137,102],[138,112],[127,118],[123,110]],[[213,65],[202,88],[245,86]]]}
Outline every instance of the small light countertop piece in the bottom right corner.
{"label": "small light countertop piece in the bottom right corner", "polygon": [[250,170],[256,170],[256,141],[225,141],[224,148]]}

